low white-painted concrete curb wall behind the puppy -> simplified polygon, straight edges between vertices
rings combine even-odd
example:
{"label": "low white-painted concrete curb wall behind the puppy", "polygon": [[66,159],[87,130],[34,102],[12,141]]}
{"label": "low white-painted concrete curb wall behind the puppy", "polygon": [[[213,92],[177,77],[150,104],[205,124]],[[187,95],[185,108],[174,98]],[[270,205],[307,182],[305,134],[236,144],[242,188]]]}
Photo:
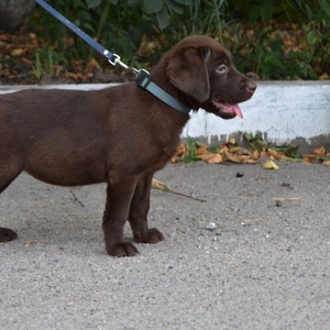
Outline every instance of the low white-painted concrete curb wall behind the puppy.
{"label": "low white-painted concrete curb wall behind the puppy", "polygon": [[[276,144],[298,139],[330,145],[330,81],[258,81],[253,98],[241,103],[244,119],[222,120],[199,110],[191,114],[183,138],[223,141],[239,132],[266,134]],[[0,94],[36,86],[3,86]],[[107,85],[53,85],[37,88],[100,89]],[[302,143],[301,142],[301,143]],[[319,142],[318,142],[319,143]]]}

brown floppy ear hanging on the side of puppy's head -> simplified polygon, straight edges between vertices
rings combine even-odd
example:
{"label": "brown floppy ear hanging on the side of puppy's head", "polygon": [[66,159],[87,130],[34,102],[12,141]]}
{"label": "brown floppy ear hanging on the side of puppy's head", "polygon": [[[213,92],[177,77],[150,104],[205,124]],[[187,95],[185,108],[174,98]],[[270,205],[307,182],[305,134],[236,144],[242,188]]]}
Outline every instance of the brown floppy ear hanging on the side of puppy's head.
{"label": "brown floppy ear hanging on the side of puppy's head", "polygon": [[167,77],[184,94],[202,103],[209,98],[210,84],[206,61],[210,50],[187,48],[169,56]]}

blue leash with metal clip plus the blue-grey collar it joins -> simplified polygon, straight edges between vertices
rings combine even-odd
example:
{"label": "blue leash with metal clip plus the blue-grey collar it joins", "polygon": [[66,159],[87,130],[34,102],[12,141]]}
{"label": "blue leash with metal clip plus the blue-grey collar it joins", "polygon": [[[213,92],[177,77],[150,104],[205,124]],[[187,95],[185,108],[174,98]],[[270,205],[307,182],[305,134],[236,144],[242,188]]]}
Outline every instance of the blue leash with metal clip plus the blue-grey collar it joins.
{"label": "blue leash with metal clip plus the blue-grey collar it joins", "polygon": [[37,2],[41,7],[43,7],[47,12],[50,12],[54,18],[59,20],[64,25],[66,25],[68,29],[70,29],[73,32],[75,32],[78,36],[80,36],[86,43],[88,43],[91,47],[94,47],[97,52],[102,54],[107,57],[109,63],[113,66],[120,65],[124,69],[132,70],[136,75],[136,85],[154,95],[156,98],[168,105],[169,107],[174,108],[175,110],[183,112],[185,114],[188,114],[190,112],[190,108],[182,105],[178,102],[173,96],[170,96],[168,92],[160,88],[156,84],[154,84],[151,78],[150,74],[145,69],[138,70],[136,68],[129,67],[124,63],[120,61],[120,56],[111,53],[106,47],[103,47],[101,44],[99,44],[97,41],[95,41],[92,37],[90,37],[88,34],[86,34],[82,30],[80,30],[78,26],[76,26],[73,22],[67,20],[63,14],[61,14],[58,11],[56,11],[53,7],[51,7],[48,3],[46,3],[44,0],[34,0]]}

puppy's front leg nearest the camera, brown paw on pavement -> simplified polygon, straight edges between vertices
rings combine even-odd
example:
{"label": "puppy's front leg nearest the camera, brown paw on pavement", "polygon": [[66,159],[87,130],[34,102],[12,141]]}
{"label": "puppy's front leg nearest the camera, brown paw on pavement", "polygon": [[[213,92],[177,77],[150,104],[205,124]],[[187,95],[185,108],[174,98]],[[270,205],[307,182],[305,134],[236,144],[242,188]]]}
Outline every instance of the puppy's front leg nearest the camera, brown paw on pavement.
{"label": "puppy's front leg nearest the camera, brown paw on pavement", "polygon": [[107,204],[102,229],[106,250],[113,256],[133,256],[136,248],[123,241],[123,227],[129,218],[129,209],[136,183],[125,182],[107,187]]}

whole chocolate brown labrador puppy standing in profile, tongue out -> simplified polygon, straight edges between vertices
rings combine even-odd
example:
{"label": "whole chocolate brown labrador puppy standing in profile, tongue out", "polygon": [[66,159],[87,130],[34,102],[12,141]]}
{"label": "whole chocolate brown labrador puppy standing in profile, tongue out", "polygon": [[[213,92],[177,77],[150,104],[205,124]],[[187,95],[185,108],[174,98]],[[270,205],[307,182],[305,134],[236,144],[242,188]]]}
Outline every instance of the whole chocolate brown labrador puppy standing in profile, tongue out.
{"label": "whole chocolate brown labrador puppy standing in profile, tongue out", "polygon": [[[256,85],[237,72],[230,54],[206,36],[176,44],[151,79],[180,105],[223,119],[242,117],[239,102]],[[189,120],[128,82],[97,91],[24,90],[0,97],[0,193],[22,172],[53,185],[107,183],[102,229],[108,254],[132,256],[123,240],[129,220],[136,242],[164,240],[148,228],[153,174],[175,153]],[[0,228],[0,242],[16,238]]]}

